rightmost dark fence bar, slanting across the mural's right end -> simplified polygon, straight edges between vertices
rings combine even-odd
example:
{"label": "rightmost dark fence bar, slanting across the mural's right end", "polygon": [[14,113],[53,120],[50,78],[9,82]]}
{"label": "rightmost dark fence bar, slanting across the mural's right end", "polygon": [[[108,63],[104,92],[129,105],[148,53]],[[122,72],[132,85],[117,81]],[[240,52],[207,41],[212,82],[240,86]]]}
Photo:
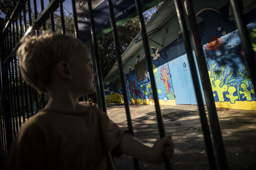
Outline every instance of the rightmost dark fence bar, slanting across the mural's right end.
{"label": "rightmost dark fence bar, slanting across the mural's right end", "polygon": [[241,44],[243,51],[245,52],[246,65],[248,67],[250,78],[254,87],[256,86],[256,61],[254,57],[254,52],[251,46],[251,41],[249,38],[249,33],[246,27],[246,20],[243,16],[243,11],[241,5],[236,0],[230,0],[232,9],[234,11],[235,23],[238,28],[239,35],[241,37]]}

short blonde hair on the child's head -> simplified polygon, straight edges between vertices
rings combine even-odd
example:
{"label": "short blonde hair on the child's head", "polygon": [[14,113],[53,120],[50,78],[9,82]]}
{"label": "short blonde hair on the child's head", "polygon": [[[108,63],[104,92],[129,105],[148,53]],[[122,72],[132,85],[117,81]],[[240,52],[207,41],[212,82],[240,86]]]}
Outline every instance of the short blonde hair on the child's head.
{"label": "short blonde hair on the child's head", "polygon": [[46,32],[39,37],[23,37],[17,50],[19,68],[27,83],[47,92],[54,65],[61,60],[70,62],[82,50],[88,47],[68,35]]}

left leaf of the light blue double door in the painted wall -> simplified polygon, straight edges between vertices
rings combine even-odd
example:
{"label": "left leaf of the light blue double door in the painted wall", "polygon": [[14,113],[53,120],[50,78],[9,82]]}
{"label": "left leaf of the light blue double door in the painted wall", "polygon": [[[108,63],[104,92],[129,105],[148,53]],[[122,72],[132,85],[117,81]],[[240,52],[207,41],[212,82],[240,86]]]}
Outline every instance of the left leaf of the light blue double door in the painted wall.
{"label": "left leaf of the light blue double door in the painted wall", "polygon": [[191,104],[179,44],[166,50],[176,104]]}

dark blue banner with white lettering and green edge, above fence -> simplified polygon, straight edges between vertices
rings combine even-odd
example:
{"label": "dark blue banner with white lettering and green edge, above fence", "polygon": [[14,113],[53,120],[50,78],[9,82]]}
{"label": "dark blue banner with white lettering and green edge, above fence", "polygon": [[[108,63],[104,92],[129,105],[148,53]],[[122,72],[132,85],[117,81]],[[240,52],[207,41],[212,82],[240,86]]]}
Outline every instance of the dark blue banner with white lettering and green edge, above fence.
{"label": "dark blue banner with white lettering and green edge, above fence", "polygon": [[[162,1],[141,0],[142,11],[144,12]],[[134,0],[112,0],[112,3],[117,27],[137,16]],[[92,7],[96,37],[99,38],[111,31],[108,1],[93,0]],[[91,28],[87,0],[77,0],[76,9],[80,39],[89,44],[91,42]]]}

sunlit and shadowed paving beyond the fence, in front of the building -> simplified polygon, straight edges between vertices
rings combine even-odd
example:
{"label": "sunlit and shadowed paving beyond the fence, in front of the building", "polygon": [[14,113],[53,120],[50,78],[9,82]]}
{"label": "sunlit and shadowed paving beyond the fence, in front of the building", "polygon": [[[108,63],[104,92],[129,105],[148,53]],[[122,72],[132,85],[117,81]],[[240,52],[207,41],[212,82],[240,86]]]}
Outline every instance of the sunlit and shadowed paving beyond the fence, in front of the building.
{"label": "sunlit and shadowed paving beyond the fence, in front of the building", "polygon": [[[160,108],[198,110],[197,105],[160,105]],[[159,138],[156,116],[145,114],[154,110],[155,105],[130,105],[134,136],[147,146],[153,146]],[[217,108],[217,113],[229,169],[256,169],[256,111]],[[123,104],[107,104],[107,115],[128,129]],[[175,121],[163,118],[163,124],[165,133],[173,137],[175,145],[170,160],[173,170],[210,169],[199,113]],[[117,170],[134,169],[133,158],[127,155],[115,158],[115,165]],[[139,165],[140,169],[165,169],[164,163],[155,165],[139,161]]]}

